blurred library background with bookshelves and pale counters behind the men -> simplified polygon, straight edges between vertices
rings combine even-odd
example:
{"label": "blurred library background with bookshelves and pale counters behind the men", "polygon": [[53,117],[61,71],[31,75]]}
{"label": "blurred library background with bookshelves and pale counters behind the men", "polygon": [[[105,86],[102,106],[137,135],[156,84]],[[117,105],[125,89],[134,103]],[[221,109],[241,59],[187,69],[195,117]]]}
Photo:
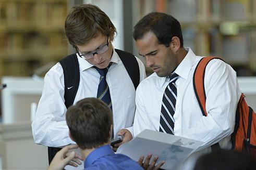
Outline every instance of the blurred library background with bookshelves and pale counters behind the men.
{"label": "blurred library background with bookshelves and pale counters behind the men", "polygon": [[0,80],[7,84],[0,91],[0,169],[47,167],[46,147],[33,143],[30,123],[45,73],[75,53],[64,22],[71,6],[84,3],[99,6],[111,18],[118,32],[114,47],[136,56],[132,29],[137,21],[152,11],[174,16],[181,23],[184,46],[229,63],[256,109],[254,0],[0,0]]}

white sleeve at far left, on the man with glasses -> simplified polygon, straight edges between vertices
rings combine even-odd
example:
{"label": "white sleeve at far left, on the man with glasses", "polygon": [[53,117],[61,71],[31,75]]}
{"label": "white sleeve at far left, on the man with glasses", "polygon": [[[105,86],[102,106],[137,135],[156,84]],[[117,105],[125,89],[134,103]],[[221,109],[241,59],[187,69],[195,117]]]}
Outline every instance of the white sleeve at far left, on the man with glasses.
{"label": "white sleeve at far left, on the man with glasses", "polygon": [[44,77],[44,87],[32,121],[34,142],[49,147],[66,146],[71,141],[66,124],[63,69],[57,63]]}

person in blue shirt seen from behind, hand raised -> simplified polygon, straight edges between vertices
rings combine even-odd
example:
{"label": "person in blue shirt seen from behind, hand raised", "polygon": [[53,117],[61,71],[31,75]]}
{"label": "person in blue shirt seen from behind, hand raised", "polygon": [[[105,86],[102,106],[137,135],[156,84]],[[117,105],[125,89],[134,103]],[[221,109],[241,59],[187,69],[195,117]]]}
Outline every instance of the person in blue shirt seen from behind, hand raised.
{"label": "person in blue shirt seen from behind, hand raised", "polygon": [[[84,160],[84,169],[143,169],[141,163],[124,154],[115,154],[112,150],[112,111],[102,100],[85,98],[78,101],[67,109],[66,122],[69,136],[77,145],[60,150],[48,169],[63,169],[67,164],[77,166],[79,159]],[[74,151],[69,152],[78,147],[81,156]],[[158,169],[163,164],[154,166],[156,160],[150,165],[152,169]]]}

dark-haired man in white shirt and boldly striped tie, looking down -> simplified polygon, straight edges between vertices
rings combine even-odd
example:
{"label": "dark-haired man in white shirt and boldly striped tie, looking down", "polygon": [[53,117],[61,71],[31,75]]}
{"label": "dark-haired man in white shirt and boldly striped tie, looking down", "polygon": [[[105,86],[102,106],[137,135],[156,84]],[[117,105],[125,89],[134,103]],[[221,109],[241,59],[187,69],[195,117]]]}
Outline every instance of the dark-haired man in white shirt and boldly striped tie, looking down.
{"label": "dark-haired man in white shirt and boldly striped tie, looking down", "polygon": [[180,23],[172,16],[152,12],[134,27],[138,52],[154,73],[136,91],[133,135],[144,129],[174,134],[203,142],[181,169],[193,168],[197,157],[218,143],[230,149],[236,106],[241,95],[236,72],[213,59],[204,74],[206,112],[203,116],[193,89],[193,73],[203,57],[183,46]]}

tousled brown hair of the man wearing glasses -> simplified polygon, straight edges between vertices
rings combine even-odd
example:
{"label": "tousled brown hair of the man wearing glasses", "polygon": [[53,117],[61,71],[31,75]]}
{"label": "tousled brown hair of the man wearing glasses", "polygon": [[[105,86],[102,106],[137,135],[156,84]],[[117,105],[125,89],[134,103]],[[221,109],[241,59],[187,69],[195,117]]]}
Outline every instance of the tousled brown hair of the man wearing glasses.
{"label": "tousled brown hair of the man wearing glasses", "polygon": [[84,45],[101,33],[113,41],[116,28],[99,7],[81,4],[71,8],[66,21],[65,33],[69,43],[75,48]]}

